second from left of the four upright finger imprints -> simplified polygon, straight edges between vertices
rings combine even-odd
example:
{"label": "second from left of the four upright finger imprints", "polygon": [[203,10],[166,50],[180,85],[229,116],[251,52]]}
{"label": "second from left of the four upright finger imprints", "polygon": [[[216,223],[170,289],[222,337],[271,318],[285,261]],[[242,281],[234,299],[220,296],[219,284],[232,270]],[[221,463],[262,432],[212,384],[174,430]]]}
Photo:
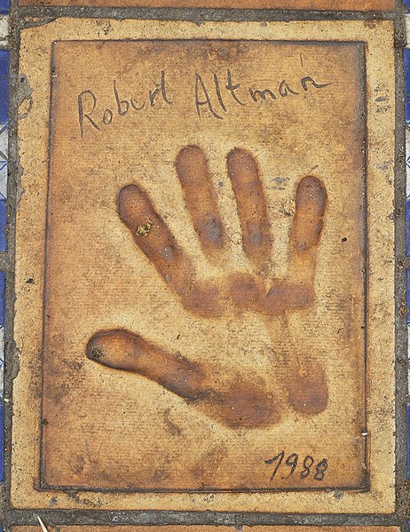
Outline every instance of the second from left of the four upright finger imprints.
{"label": "second from left of the four upright finger imprints", "polygon": [[193,220],[193,228],[200,237],[201,246],[211,258],[218,258],[220,255],[216,251],[225,247],[227,239],[206,156],[200,147],[184,147],[177,155],[176,166],[185,204]]}

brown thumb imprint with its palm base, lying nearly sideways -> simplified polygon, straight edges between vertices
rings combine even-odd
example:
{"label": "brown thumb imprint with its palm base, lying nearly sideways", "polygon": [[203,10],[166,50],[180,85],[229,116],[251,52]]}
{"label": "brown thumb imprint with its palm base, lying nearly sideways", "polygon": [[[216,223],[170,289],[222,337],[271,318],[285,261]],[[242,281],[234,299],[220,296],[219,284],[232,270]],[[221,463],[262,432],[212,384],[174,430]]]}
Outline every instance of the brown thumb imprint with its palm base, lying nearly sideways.
{"label": "brown thumb imprint with its palm base, lying nearly sideways", "polygon": [[259,428],[280,419],[271,393],[251,383],[218,390],[211,371],[129,330],[99,331],[88,342],[86,356],[102,366],[146,377],[231,428]]}

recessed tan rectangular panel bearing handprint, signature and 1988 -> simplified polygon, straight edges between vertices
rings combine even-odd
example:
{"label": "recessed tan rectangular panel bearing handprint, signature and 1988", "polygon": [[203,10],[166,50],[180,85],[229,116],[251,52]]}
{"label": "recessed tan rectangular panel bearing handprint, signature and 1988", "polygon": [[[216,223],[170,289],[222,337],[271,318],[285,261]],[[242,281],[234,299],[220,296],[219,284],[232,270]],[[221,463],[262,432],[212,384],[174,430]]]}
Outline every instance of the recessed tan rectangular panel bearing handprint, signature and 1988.
{"label": "recessed tan rectangular panel bearing handprint, signature and 1988", "polygon": [[363,59],[55,45],[46,485],[363,488]]}

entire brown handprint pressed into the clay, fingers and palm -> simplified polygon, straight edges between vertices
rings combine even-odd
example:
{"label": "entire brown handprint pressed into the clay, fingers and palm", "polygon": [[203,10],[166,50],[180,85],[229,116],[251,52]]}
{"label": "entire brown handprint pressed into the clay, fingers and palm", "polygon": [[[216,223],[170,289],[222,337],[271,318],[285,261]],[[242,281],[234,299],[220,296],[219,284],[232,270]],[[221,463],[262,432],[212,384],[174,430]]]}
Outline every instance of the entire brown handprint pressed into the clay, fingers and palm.
{"label": "entire brown handprint pressed into the clay, fingers and palm", "polygon": [[[210,282],[199,280],[193,260],[180,247],[145,190],[131,184],[118,195],[118,213],[139,250],[152,261],[185,311],[205,320],[227,313],[253,312],[263,317],[272,343],[278,334],[278,323],[280,334],[288,335],[288,314],[314,303],[316,257],[327,206],[322,182],[307,176],[297,186],[288,274],[276,279],[271,274],[272,235],[266,198],[254,157],[240,148],[227,155],[242,246],[252,274],[235,273],[227,266],[229,242],[201,148],[183,148],[177,155],[176,169],[202,250],[209,261],[226,264],[225,271]],[[276,326],[272,327],[274,322]],[[291,348],[282,361],[287,365],[287,382],[282,385],[287,390],[288,403],[301,414],[317,414],[327,406],[325,373],[309,357],[293,351]],[[130,330],[97,332],[91,337],[86,354],[106,367],[151,379],[228,427],[261,427],[280,419],[276,398],[263,386],[240,374],[234,384],[217,385],[206,361],[189,361]]]}

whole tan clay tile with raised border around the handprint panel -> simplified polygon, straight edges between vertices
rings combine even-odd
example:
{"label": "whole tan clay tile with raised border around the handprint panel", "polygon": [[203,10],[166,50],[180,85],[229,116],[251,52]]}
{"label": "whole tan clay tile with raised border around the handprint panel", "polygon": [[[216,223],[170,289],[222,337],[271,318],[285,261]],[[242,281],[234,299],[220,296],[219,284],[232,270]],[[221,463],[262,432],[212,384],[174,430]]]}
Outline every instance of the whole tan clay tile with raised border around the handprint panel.
{"label": "whole tan clay tile with raised border around the handprint panel", "polygon": [[390,22],[75,24],[23,34],[13,497],[390,511]]}

